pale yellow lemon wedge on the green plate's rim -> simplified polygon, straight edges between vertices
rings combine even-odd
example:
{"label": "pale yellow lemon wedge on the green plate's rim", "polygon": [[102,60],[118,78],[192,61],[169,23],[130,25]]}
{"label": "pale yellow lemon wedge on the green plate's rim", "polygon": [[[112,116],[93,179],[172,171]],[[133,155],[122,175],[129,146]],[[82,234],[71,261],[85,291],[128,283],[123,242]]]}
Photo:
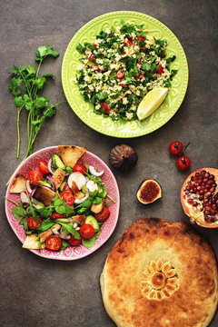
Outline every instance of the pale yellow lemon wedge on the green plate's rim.
{"label": "pale yellow lemon wedge on the green plate's rim", "polygon": [[168,92],[166,87],[157,87],[148,92],[137,109],[137,116],[139,120],[144,120],[163,103],[164,98]]}

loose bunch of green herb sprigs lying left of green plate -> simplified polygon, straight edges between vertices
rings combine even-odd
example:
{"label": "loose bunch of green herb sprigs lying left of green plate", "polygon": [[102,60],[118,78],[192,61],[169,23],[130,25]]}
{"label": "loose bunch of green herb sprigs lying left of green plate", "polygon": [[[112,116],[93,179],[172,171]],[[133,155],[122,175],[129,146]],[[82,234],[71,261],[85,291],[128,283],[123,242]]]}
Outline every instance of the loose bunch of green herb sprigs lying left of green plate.
{"label": "loose bunch of green herb sprigs lying left of green plate", "polygon": [[[9,74],[14,74],[9,85],[9,90],[15,96],[14,104],[17,108],[17,158],[20,153],[20,114],[22,109],[28,112],[27,118],[27,138],[28,147],[25,158],[33,153],[35,137],[42,127],[45,118],[52,117],[56,113],[57,104],[49,104],[49,98],[38,95],[38,91],[44,88],[47,78],[55,78],[54,74],[39,74],[39,69],[45,57],[53,56],[56,58],[58,52],[53,50],[51,45],[39,46],[35,52],[35,61],[38,63],[37,69],[35,65],[30,64],[18,68],[13,64],[13,69]],[[63,101],[64,102],[64,101]],[[62,102],[58,103],[61,104]],[[25,160],[22,160],[22,162]]]}

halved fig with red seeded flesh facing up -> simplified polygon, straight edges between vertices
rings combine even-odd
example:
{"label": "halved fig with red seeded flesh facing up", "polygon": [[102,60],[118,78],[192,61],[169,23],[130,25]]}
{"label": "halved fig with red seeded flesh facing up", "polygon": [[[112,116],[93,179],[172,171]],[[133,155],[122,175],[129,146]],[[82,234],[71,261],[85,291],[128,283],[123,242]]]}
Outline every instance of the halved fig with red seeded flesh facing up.
{"label": "halved fig with red seeded flesh facing up", "polygon": [[161,197],[161,185],[154,181],[154,179],[145,179],[137,191],[138,201],[144,204],[154,203],[154,201]]}

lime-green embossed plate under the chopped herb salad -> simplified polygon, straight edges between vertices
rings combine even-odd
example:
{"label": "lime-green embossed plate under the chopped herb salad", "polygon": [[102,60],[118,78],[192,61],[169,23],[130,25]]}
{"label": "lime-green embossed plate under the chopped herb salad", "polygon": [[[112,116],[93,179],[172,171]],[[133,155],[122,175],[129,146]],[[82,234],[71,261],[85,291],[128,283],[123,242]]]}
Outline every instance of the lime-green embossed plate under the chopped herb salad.
{"label": "lime-green embossed plate under the chopped herb salad", "polygon": [[[74,83],[75,69],[80,64],[79,58],[81,57],[81,54],[75,49],[76,45],[93,42],[95,35],[98,35],[101,30],[121,25],[122,19],[124,22],[144,24],[148,30],[148,35],[160,37],[167,41],[167,55],[176,55],[176,59],[171,64],[171,69],[178,69],[178,73],[173,77],[171,90],[163,104],[143,122],[114,122],[110,117],[104,118],[94,114],[93,104],[84,102],[78,85]],[[136,137],[154,132],[167,123],[179,109],[187,89],[188,64],[179,40],[161,22],[149,15],[136,12],[114,12],[94,18],[74,35],[64,54],[62,84],[68,103],[84,124],[102,134],[114,137]]]}

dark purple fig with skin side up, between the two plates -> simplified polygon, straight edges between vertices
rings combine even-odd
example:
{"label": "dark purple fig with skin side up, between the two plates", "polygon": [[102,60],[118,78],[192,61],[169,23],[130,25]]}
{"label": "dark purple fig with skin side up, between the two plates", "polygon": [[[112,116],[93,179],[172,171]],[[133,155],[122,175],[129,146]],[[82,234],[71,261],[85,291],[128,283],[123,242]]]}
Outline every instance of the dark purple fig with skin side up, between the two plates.
{"label": "dark purple fig with skin side up, between the two plates", "polygon": [[116,145],[109,154],[109,162],[120,171],[128,171],[134,168],[137,159],[138,155],[134,149],[126,144]]}

